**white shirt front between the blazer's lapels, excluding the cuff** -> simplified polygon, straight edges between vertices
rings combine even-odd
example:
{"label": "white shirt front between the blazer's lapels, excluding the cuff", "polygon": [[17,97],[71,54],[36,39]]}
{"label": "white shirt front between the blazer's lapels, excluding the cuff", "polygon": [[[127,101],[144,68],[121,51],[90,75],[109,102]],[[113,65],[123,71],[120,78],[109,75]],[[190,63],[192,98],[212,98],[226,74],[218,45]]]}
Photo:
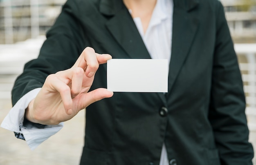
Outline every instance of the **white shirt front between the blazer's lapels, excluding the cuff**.
{"label": "white shirt front between the blazer's lapels, excluding the cuff", "polygon": [[[130,13],[132,11],[130,10]],[[133,18],[141,38],[153,59],[171,60],[171,38],[173,27],[173,1],[157,0],[146,32],[143,30],[140,18]],[[160,164],[168,165],[166,147],[163,144]]]}

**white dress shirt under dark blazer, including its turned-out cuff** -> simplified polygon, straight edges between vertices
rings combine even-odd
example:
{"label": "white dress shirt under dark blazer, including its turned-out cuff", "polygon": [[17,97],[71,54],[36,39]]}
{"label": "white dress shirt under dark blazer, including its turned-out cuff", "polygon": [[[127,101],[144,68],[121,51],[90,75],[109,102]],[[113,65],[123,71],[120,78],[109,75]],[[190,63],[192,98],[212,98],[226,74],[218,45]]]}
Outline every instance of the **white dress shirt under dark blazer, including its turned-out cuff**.
{"label": "white dress shirt under dark blazer, including its turned-out cuff", "polygon": [[[132,11],[130,11],[132,12]],[[151,20],[146,32],[143,31],[140,18],[134,18],[135,25],[141,35],[141,38],[153,59],[171,59],[171,38],[173,25],[173,1],[157,0]],[[23,134],[28,146],[33,150],[47,138],[56,134],[63,123],[58,125],[47,125],[44,129],[35,127],[24,127],[23,120],[25,109],[38,94],[40,88],[29,91],[25,94],[9,111],[4,118],[1,127],[10,131]],[[163,144],[160,165],[168,165],[166,147]]]}

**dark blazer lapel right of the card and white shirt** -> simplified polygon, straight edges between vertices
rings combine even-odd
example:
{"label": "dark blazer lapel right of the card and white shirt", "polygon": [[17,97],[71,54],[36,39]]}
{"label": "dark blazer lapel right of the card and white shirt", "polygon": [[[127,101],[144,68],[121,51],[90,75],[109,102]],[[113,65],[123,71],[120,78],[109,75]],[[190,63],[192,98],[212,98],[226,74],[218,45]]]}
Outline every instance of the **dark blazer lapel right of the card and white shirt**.
{"label": "dark blazer lapel right of the card and white shirt", "polygon": [[198,14],[194,12],[198,0],[173,0],[172,55],[168,75],[168,93],[189,54],[191,43],[198,29]]}

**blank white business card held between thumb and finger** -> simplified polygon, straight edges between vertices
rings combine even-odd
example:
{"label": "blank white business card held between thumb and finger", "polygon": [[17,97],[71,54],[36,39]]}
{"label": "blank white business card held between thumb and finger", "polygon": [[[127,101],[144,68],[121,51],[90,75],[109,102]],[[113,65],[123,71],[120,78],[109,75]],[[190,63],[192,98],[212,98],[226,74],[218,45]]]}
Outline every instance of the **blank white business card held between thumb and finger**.
{"label": "blank white business card held between thumb and finger", "polygon": [[107,88],[114,92],[167,92],[168,60],[110,59]]}

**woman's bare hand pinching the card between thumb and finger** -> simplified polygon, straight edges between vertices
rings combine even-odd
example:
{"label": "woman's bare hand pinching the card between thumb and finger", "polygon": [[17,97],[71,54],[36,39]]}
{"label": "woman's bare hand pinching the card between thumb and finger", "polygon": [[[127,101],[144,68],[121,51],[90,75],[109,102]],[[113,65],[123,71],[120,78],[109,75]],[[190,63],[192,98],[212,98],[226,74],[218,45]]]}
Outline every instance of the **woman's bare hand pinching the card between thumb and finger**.
{"label": "woman's bare hand pinching the card between thumb and finger", "polygon": [[113,92],[104,88],[88,92],[99,65],[111,58],[86,47],[72,68],[46,78],[36,98],[29,103],[26,118],[34,123],[56,125],[70,120],[88,105],[112,97]]}

